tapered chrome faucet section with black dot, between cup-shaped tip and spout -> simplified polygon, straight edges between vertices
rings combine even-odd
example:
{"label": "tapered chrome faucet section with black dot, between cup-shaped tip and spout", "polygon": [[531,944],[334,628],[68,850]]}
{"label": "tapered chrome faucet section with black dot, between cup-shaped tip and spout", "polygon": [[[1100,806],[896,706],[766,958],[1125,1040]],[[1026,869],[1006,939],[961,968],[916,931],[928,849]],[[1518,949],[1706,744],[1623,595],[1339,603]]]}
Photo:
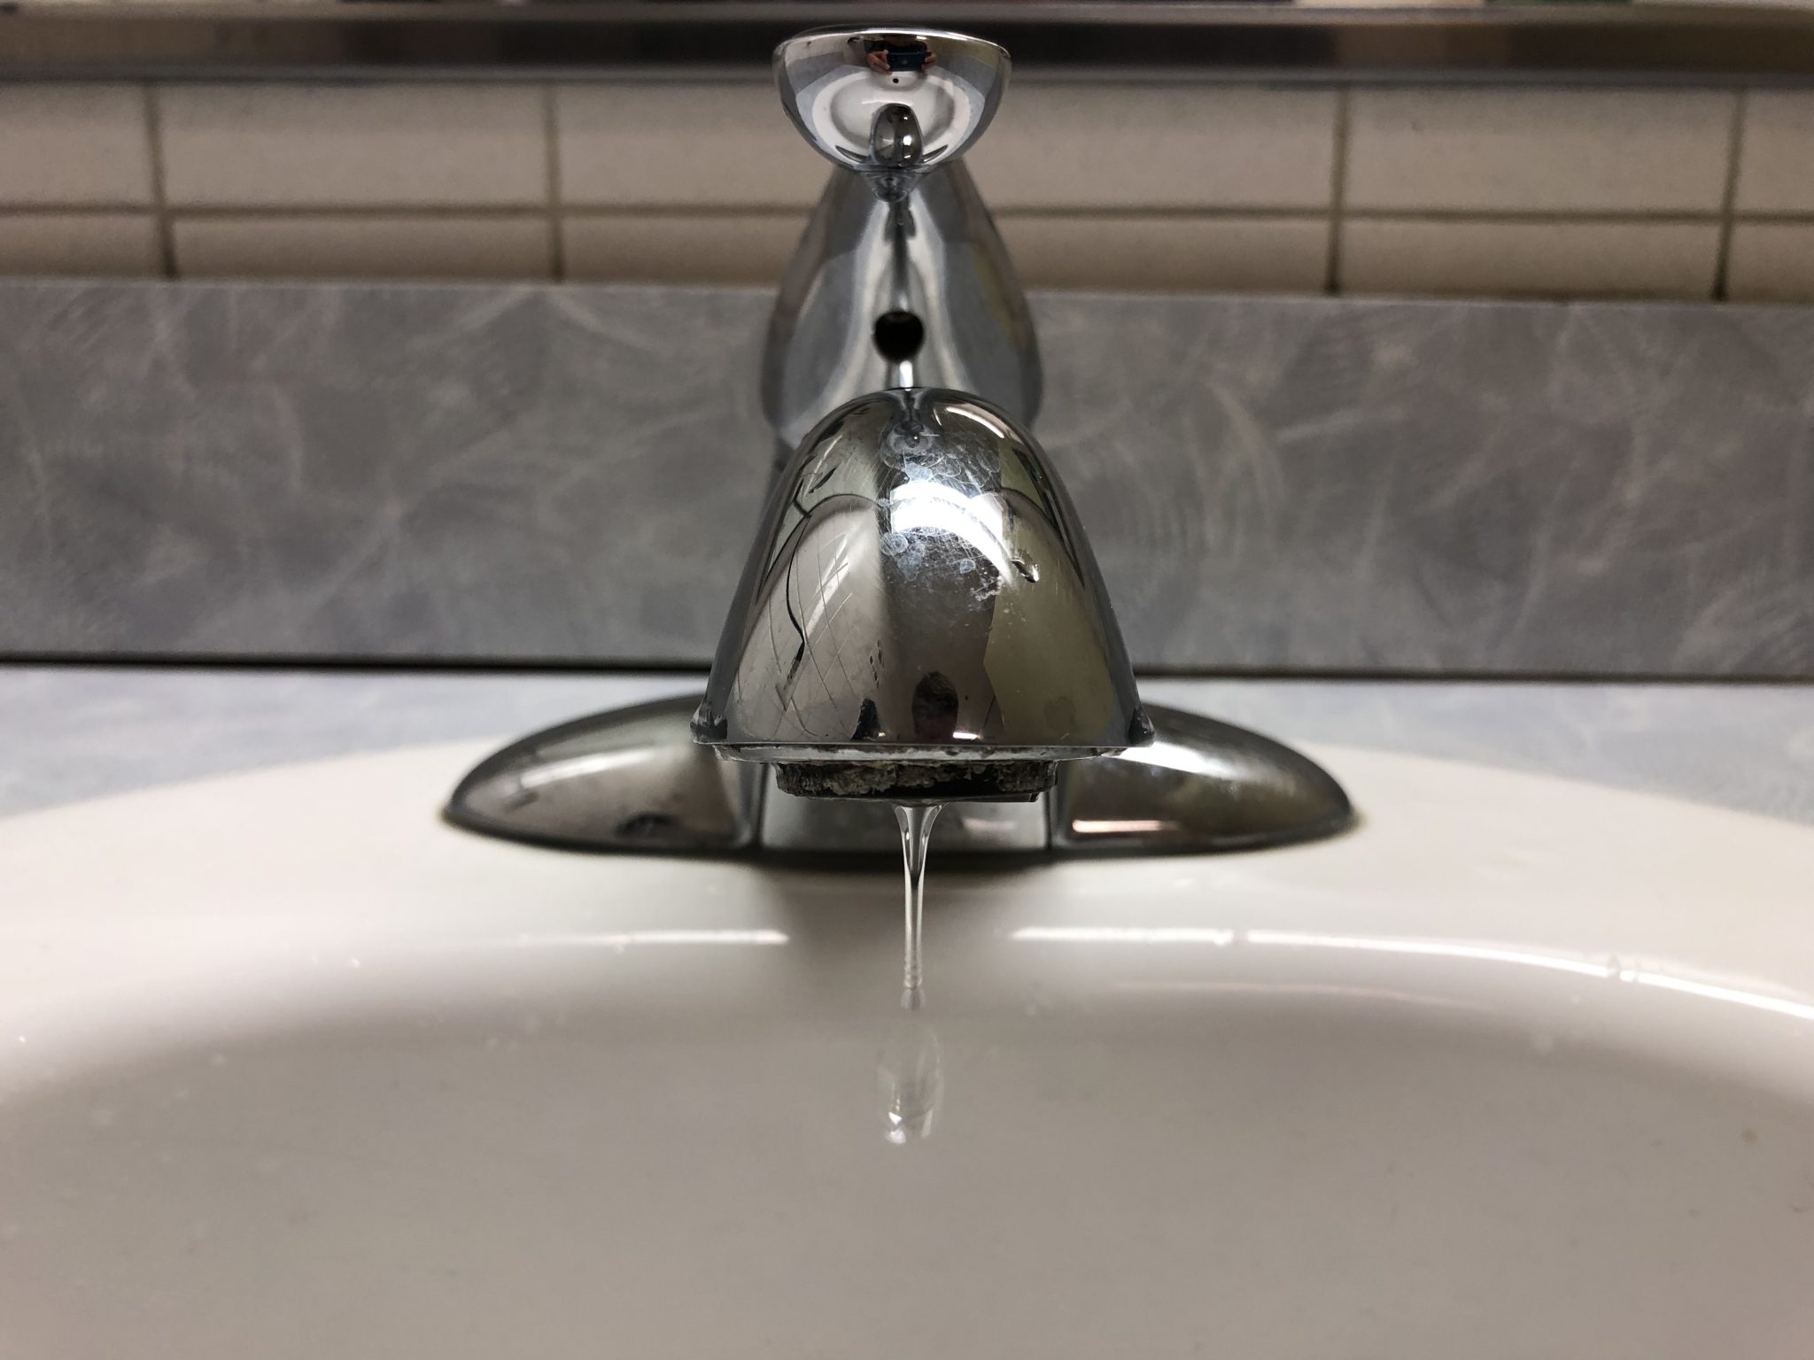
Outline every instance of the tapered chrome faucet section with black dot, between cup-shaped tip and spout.
{"label": "tapered chrome faucet section with black dot, between cup-shaped tip and spout", "polygon": [[762,404],[782,446],[902,386],[974,392],[1030,424],[1039,383],[1027,294],[963,163],[894,201],[833,170],[769,319]]}

